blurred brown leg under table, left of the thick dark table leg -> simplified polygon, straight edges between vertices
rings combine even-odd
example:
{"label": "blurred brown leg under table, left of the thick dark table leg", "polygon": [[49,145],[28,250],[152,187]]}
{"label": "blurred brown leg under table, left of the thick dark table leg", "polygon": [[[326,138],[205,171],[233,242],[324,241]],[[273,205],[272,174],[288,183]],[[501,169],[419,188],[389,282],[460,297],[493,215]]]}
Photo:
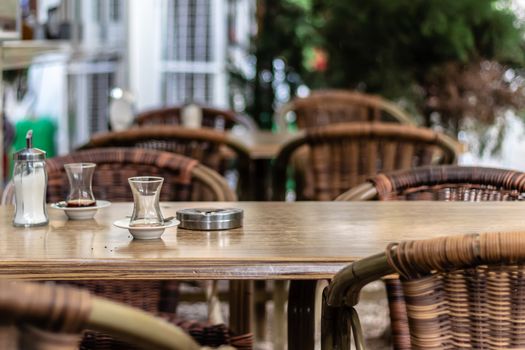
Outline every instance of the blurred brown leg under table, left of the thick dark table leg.
{"label": "blurred brown leg under table, left of the thick dark table leg", "polygon": [[253,281],[230,281],[230,329],[236,334],[252,332]]}

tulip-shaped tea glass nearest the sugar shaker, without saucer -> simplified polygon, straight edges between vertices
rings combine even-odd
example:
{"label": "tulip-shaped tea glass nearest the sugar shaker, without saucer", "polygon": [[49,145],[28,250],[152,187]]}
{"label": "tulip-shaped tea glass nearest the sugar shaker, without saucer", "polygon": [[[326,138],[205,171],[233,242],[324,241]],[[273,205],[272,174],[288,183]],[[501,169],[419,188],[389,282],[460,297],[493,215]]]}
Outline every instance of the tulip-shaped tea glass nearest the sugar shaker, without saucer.
{"label": "tulip-shaped tea glass nearest the sugar shaker, without saucer", "polygon": [[91,187],[96,166],[95,163],[64,164],[69,179],[69,194],[66,198],[68,207],[91,207],[97,204]]}

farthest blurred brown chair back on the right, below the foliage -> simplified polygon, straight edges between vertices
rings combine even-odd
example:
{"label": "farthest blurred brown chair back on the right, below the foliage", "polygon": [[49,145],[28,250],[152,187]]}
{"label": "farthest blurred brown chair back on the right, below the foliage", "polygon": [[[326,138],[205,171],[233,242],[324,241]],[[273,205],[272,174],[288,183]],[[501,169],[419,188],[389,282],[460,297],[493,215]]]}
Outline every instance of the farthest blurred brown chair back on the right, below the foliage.
{"label": "farthest blurred brown chair back on the right, below the foliage", "polygon": [[286,115],[295,113],[299,129],[347,122],[395,122],[415,125],[413,118],[396,104],[380,96],[351,90],[317,90],[295,98],[277,115],[277,124],[286,130]]}

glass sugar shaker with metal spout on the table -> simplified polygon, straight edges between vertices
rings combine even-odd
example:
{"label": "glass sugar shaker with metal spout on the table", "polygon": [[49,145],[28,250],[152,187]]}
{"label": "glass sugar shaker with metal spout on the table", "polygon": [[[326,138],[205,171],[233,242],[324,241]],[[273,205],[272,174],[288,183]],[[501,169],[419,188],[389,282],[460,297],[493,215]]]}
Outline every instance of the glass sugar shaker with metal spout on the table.
{"label": "glass sugar shaker with metal spout on the table", "polygon": [[40,226],[49,222],[46,209],[46,152],[33,148],[33,130],[26,134],[26,148],[13,155],[15,161],[14,226]]}

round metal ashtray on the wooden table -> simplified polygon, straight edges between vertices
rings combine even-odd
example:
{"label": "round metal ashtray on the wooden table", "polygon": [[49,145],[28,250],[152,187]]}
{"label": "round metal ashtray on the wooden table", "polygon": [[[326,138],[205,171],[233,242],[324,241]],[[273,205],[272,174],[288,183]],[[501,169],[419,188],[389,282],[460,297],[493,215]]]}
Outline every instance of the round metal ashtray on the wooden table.
{"label": "round metal ashtray on the wooden table", "polygon": [[177,219],[188,230],[231,230],[242,227],[243,213],[237,208],[191,208],[177,211]]}

